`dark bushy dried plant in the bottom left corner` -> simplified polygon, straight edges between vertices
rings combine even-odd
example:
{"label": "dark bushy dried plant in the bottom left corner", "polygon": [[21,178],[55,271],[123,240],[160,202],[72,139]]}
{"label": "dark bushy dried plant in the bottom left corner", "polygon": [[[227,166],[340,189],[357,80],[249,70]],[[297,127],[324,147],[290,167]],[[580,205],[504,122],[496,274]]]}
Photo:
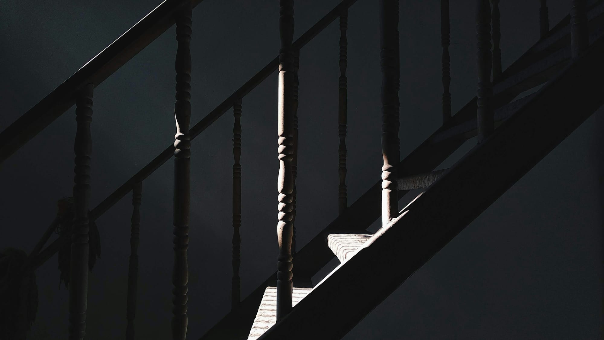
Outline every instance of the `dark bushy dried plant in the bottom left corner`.
{"label": "dark bushy dried plant in the bottom left corner", "polygon": [[0,339],[25,338],[36,319],[38,293],[23,250],[0,251],[0,301]]}

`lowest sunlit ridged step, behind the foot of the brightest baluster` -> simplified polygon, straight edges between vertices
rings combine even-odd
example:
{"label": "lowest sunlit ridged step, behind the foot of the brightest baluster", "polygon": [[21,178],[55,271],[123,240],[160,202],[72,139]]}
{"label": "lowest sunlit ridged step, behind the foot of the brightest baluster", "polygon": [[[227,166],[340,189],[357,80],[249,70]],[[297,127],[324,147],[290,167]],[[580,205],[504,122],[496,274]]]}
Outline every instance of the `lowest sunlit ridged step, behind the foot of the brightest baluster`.
{"label": "lowest sunlit ridged step, behind the foot of the brightest baluster", "polygon": [[[308,295],[312,288],[294,287],[294,298],[292,306],[296,306],[304,296]],[[249,331],[248,340],[260,338],[277,322],[277,287],[266,287],[265,293],[262,296],[262,302],[258,307],[258,313],[254,318],[254,324]]]}

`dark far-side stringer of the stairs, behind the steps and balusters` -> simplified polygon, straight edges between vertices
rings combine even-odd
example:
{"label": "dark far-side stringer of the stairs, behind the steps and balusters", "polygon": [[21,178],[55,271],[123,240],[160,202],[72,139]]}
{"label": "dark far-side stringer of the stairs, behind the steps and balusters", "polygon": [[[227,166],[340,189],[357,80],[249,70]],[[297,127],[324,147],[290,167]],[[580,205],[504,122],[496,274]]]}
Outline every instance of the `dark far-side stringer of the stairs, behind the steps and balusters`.
{"label": "dark far-side stringer of the stairs, behind the steps and balusters", "polygon": [[[594,6],[590,9],[590,21],[594,20],[600,25],[604,21],[602,2],[591,1],[591,4]],[[496,10],[498,8],[492,11]],[[544,16],[541,16],[541,18],[543,19]],[[568,47],[568,42],[570,42],[569,22],[570,16],[562,19],[552,30],[542,35],[540,41],[536,42],[527,53],[513,62],[499,77],[493,78],[493,81],[490,80],[490,74],[488,78],[486,77],[493,88],[496,89],[496,96],[492,97],[492,108],[497,109],[495,112],[497,124],[509,117],[511,113],[518,111],[520,106],[532,98],[532,96],[528,96],[525,99],[511,102],[518,94],[548,81],[568,64],[570,53],[568,53],[568,56],[565,56],[564,53],[566,52],[565,47]],[[446,27],[446,25],[443,25],[443,27]],[[498,28],[494,27],[493,30],[498,30]],[[562,57],[559,57],[558,54],[562,54]],[[544,65],[547,65],[547,68],[544,68]],[[401,195],[404,195],[410,189],[426,188],[430,183],[434,183],[443,172],[447,171],[446,169],[442,171],[432,170],[467,139],[476,136],[476,117],[477,104],[476,98],[474,98],[399,163],[396,168],[399,177],[397,189]],[[345,232],[365,233],[363,229],[381,215],[381,202],[379,201],[379,191],[381,190],[380,181],[353,203],[350,209],[347,209],[344,214],[339,215],[336,220],[330,223],[321,234],[300,249],[300,252],[294,257],[294,280],[298,270],[306,275],[313,275],[333,258],[332,253],[321,249],[321,246],[325,248],[324,243],[328,234],[341,234],[345,226],[355,226],[356,228],[355,230],[348,229]],[[225,334],[233,338],[247,335],[249,324],[254,319],[265,292],[265,287],[274,284],[272,277],[273,275],[269,276],[242,302],[240,310],[228,313],[202,339],[222,339]]]}

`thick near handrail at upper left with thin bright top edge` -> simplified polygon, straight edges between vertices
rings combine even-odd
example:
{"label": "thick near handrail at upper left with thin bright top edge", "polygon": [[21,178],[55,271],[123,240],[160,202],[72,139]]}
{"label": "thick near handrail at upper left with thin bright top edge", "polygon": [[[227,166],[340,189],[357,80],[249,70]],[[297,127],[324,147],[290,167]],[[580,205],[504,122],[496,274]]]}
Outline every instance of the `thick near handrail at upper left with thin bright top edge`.
{"label": "thick near handrail at upper left with thin bright top edge", "polygon": [[93,83],[96,87],[172,27],[175,23],[173,13],[187,1],[192,1],[195,7],[203,0],[164,0],[120,38],[115,39],[23,116],[0,132],[0,164],[69,110],[76,102],[75,94],[80,87],[88,83]]}

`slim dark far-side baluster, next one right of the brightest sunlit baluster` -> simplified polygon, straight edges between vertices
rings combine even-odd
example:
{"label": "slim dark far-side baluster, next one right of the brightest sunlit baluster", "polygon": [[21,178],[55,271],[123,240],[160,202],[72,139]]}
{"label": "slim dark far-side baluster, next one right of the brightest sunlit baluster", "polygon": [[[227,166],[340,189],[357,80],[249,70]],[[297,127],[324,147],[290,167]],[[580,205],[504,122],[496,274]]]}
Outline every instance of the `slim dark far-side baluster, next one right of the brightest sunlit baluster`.
{"label": "slim dark far-side baluster, next one right of the brightest sunlit baluster", "polygon": [[348,39],[346,38],[346,30],[348,29],[348,8],[344,7],[340,11],[340,77],[338,89],[338,136],[340,143],[338,146],[338,215],[344,214],[348,208],[347,189],[346,189],[346,124],[348,115],[347,106],[347,77],[346,67],[348,65],[347,48]]}

